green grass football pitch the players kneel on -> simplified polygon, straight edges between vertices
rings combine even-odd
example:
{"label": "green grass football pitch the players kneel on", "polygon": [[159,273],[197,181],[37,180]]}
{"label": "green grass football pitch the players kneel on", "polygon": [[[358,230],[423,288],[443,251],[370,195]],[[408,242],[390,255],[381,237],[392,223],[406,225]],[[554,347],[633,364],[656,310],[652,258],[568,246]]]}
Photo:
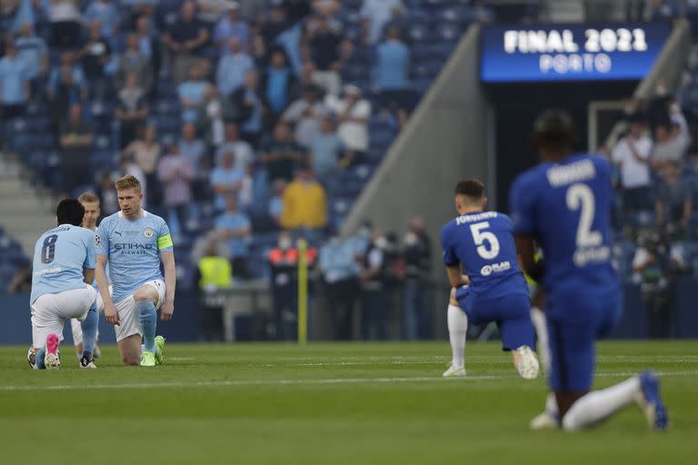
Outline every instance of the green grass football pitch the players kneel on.
{"label": "green grass football pitch the players kneel on", "polygon": [[31,371],[0,348],[0,463],[698,463],[698,342],[605,342],[596,387],[653,367],[673,422],[630,407],[594,430],[531,431],[545,381],[495,343],[468,343],[468,377],[441,379],[447,343],[168,344],[122,367]]}

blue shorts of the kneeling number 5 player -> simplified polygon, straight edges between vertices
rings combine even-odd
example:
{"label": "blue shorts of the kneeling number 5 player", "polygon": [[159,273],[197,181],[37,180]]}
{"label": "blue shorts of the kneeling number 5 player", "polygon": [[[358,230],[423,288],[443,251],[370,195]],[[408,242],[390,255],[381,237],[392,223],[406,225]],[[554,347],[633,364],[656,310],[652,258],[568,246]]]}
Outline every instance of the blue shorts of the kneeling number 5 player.
{"label": "blue shorts of the kneeling number 5 player", "polygon": [[479,296],[468,286],[455,292],[468,322],[496,322],[502,334],[502,350],[514,351],[522,345],[535,348],[535,330],[531,322],[531,299],[528,294],[512,293],[495,298]]}

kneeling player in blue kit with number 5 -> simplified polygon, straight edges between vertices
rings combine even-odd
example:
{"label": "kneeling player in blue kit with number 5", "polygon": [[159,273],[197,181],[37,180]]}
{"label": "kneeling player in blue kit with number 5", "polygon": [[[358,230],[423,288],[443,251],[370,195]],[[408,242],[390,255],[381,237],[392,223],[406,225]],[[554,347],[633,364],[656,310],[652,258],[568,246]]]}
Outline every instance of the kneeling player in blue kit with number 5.
{"label": "kneeling player in blue kit with number 5", "polygon": [[504,351],[512,351],[523,378],[533,379],[540,366],[531,349],[535,341],[531,301],[516,258],[514,225],[502,213],[485,212],[486,203],[483,183],[461,181],[455,186],[460,216],[441,232],[444,264],[454,288],[447,314],[453,361],[444,377],[465,375],[468,322],[497,322]]}

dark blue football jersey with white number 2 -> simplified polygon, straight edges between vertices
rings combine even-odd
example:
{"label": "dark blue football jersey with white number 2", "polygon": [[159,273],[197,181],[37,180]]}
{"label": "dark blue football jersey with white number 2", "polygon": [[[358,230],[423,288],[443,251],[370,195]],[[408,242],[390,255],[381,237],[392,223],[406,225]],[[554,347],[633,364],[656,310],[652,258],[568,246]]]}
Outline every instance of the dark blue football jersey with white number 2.
{"label": "dark blue football jersey with white number 2", "polygon": [[519,175],[510,191],[516,233],[532,236],[545,257],[547,294],[618,286],[611,263],[611,168],[578,153]]}

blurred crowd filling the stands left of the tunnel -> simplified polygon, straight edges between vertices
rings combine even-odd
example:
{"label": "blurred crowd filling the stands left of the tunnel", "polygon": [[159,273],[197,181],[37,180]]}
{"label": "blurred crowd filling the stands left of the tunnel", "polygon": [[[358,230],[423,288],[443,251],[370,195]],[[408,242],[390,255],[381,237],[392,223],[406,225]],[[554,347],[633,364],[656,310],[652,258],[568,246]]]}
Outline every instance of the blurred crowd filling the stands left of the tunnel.
{"label": "blurred crowd filling the stands left of the tunnel", "polygon": [[[404,294],[401,335],[429,337],[420,221],[402,241],[367,226],[343,240],[328,203],[328,191],[370,175],[369,123],[396,132],[416,97],[404,5],[353,3],[360,22],[349,30],[334,0],[8,0],[1,137],[46,105],[58,150],[40,184],[57,196],[94,191],[105,216],[118,210],[115,177],[135,175],[146,208],[192,251],[196,274],[180,279],[194,288],[196,264],[214,251],[234,281],[271,279],[274,300],[287,300],[274,251],[304,238],[337,296],[336,337],[352,337],[361,301],[363,337],[387,338],[394,294]],[[357,49],[372,60],[360,85],[345,78]],[[251,258],[259,247],[264,262]],[[293,315],[278,307],[278,337],[293,337],[283,330]]]}

